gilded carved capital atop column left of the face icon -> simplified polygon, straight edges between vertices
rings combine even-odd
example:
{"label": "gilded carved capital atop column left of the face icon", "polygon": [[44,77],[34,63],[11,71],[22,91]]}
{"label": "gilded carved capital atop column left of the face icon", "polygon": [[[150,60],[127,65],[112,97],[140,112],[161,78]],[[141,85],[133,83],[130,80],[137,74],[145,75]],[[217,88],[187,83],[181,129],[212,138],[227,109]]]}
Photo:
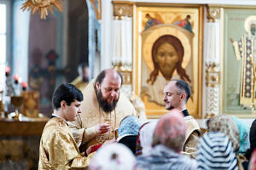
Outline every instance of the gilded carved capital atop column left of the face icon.
{"label": "gilded carved capital atop column left of the face icon", "polygon": [[113,16],[117,17],[119,20],[126,16],[132,16],[132,5],[131,4],[119,4],[113,3]]}

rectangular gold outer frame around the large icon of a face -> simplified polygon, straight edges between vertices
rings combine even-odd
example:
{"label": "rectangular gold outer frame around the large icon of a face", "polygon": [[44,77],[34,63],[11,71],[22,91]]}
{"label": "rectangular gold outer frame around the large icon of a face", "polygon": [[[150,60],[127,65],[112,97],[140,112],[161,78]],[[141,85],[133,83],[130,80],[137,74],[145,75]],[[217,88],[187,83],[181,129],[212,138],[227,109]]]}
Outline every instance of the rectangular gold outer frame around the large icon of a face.
{"label": "rectangular gold outer frame around the large icon of a face", "polygon": [[[141,37],[139,32],[139,26],[141,23],[139,23],[138,17],[139,13],[141,13],[143,10],[149,10],[150,9],[156,9],[158,11],[162,11],[163,8],[183,8],[183,9],[189,9],[189,8],[196,8],[198,10],[198,25],[199,29],[196,34],[198,36],[198,44],[197,44],[197,50],[198,50],[198,59],[195,61],[193,59],[193,62],[195,61],[196,65],[193,64],[193,72],[196,75],[193,75],[194,80],[196,81],[196,87],[195,91],[197,92],[196,101],[194,102],[194,105],[189,105],[189,113],[192,116],[195,116],[196,118],[200,118],[202,116],[202,42],[203,42],[203,13],[204,13],[204,6],[203,5],[197,5],[197,4],[173,4],[173,3],[135,3],[133,5],[133,32],[134,37],[133,39],[133,80],[132,80],[132,87],[135,91],[135,94],[137,96],[140,96],[141,94],[141,84],[142,84],[142,45],[141,45]],[[184,10],[184,13],[186,11]],[[195,49],[195,48],[194,48]],[[194,56],[195,57],[195,56]],[[159,118],[160,116],[166,114],[165,107],[160,107],[159,105],[155,105],[154,103],[149,103],[147,99],[143,98],[143,102],[146,106],[146,114],[148,118]]]}

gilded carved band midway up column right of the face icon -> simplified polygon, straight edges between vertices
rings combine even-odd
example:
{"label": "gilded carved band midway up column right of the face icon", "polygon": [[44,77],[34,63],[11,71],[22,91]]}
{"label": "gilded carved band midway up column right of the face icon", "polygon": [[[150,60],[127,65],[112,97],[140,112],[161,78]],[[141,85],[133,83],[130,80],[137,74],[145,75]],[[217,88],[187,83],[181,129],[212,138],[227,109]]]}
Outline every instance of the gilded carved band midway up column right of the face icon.
{"label": "gilded carved band midway up column right of the face icon", "polygon": [[207,87],[217,87],[219,84],[219,71],[218,65],[216,63],[209,63],[207,64]]}

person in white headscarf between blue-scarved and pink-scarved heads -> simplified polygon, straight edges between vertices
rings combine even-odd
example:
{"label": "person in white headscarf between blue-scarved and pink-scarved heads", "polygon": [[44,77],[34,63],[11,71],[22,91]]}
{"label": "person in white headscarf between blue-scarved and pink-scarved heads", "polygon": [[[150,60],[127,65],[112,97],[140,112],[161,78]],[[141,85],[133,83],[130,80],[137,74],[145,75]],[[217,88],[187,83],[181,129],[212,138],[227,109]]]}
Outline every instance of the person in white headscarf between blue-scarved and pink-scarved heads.
{"label": "person in white headscarf between blue-scarved and pink-scarved heads", "polygon": [[136,156],[147,154],[148,151],[152,149],[153,134],[156,124],[157,121],[146,122],[140,127],[137,136]]}

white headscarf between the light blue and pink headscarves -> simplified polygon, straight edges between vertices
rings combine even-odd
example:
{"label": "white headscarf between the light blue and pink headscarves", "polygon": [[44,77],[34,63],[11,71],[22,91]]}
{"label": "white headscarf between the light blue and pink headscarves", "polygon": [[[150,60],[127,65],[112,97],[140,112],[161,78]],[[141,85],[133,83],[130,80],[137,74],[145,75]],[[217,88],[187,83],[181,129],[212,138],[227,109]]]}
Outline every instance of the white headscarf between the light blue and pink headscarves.
{"label": "white headscarf between the light blue and pink headscarves", "polygon": [[140,130],[140,142],[143,148],[143,154],[147,153],[152,148],[153,134],[157,121],[145,124]]}

